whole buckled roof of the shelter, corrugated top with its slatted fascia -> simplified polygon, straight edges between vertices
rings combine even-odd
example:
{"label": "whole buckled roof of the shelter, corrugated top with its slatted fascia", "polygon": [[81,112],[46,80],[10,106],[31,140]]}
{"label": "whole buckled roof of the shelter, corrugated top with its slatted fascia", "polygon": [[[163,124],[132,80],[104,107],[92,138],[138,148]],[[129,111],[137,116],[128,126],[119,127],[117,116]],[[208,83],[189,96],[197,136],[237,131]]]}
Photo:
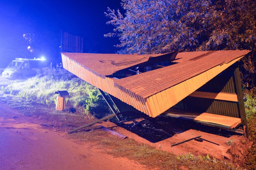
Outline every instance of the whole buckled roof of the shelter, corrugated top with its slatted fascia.
{"label": "whole buckled roof of the shelter, corrugated top with its slatted fascia", "polygon": [[[173,65],[123,79],[107,75],[131,66],[152,64],[163,55],[63,53],[63,67],[81,79],[156,117],[246,55],[249,50],[180,52]],[[174,59],[175,53],[168,53]],[[166,59],[166,58],[165,58]],[[144,66],[142,66],[144,67]]]}

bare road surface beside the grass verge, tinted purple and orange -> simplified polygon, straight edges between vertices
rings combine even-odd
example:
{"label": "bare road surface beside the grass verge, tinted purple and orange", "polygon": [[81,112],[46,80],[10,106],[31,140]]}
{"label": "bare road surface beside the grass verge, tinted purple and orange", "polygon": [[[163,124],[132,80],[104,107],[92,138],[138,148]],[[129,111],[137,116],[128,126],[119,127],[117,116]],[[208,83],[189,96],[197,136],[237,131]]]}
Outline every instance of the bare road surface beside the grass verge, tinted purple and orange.
{"label": "bare road surface beside the grass verge, tinted purple and orange", "polygon": [[110,160],[0,106],[0,169],[136,169]]}

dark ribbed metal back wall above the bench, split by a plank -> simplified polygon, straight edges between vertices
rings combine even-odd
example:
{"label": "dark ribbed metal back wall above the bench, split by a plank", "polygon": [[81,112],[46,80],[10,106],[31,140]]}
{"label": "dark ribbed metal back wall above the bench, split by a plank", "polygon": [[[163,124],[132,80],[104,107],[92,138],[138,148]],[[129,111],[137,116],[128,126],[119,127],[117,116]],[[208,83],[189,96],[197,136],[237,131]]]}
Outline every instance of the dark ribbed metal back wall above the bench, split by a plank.
{"label": "dark ribbed metal back wall above the bench, split by a plank", "polygon": [[[236,93],[234,83],[234,70],[224,70],[222,73],[207,82],[197,91],[212,93]],[[205,112],[215,115],[241,118],[238,102],[232,101],[215,100],[200,97],[186,97],[173,107],[194,112]]]}

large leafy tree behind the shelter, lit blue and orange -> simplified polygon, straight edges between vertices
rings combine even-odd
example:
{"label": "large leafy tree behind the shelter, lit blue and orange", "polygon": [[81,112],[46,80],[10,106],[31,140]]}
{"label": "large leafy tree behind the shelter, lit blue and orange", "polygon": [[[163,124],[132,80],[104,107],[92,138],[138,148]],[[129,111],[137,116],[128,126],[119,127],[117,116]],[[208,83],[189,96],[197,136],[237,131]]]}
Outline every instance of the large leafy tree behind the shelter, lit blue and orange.
{"label": "large leafy tree behind the shelter, lit blue and orange", "polygon": [[244,67],[253,73],[256,51],[255,0],[122,0],[105,13],[112,33],[128,53],[250,49]]}

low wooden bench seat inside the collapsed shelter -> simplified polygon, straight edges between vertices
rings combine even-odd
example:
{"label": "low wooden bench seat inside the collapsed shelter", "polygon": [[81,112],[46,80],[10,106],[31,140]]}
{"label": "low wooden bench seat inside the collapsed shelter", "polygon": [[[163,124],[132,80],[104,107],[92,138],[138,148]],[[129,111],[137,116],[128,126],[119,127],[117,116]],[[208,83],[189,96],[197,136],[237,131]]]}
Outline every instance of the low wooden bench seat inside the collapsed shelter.
{"label": "low wooden bench seat inside the collapsed shelter", "polygon": [[210,113],[190,112],[183,109],[170,108],[163,115],[186,120],[192,120],[203,124],[209,124],[217,127],[224,127],[234,129],[241,125],[240,118],[233,118],[229,116],[214,115]]}

